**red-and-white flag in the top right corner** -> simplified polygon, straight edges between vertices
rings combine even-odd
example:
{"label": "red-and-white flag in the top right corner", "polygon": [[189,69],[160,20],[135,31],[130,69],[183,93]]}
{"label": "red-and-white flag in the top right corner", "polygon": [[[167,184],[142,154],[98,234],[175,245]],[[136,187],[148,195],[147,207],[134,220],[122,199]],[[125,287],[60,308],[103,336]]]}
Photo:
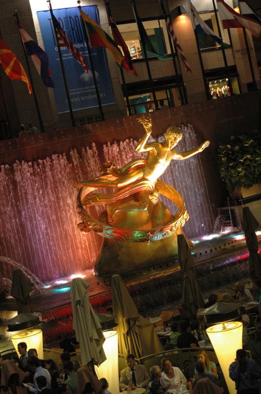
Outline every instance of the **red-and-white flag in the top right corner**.
{"label": "red-and-white flag in the top right corner", "polygon": [[223,0],[217,0],[217,6],[224,29],[246,28],[255,37],[259,38],[261,36],[260,22],[238,14]]}

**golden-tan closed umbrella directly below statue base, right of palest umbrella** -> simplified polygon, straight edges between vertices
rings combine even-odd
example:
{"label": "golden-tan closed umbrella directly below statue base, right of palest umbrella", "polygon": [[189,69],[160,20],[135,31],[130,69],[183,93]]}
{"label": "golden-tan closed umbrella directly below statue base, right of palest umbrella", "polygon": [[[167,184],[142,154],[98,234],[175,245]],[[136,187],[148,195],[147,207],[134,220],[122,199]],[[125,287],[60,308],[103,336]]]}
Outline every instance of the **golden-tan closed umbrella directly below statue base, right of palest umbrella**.
{"label": "golden-tan closed umbrella directly below statue base, right of palest umbrella", "polygon": [[134,354],[140,358],[162,352],[154,326],[139,315],[123,280],[119,275],[112,277],[113,314],[118,326],[119,353]]}

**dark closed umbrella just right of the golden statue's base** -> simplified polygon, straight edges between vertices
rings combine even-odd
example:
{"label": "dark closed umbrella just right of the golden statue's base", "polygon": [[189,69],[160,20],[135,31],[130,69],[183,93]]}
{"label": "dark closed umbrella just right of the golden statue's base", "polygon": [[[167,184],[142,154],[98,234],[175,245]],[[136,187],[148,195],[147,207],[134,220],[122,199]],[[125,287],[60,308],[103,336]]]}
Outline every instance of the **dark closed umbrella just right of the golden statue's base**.
{"label": "dark closed umbrella just right of the golden statue's base", "polygon": [[183,234],[177,236],[177,248],[179,265],[184,272],[182,306],[190,310],[192,315],[195,315],[197,309],[203,307],[204,299],[193,272],[195,262]]}

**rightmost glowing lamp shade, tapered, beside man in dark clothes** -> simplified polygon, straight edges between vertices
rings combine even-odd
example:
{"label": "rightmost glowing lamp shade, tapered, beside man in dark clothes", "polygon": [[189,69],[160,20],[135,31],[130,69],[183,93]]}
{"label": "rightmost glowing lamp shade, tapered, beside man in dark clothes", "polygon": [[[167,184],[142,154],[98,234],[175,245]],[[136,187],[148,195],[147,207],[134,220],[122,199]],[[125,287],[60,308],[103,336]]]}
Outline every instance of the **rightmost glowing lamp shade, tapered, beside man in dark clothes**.
{"label": "rightmost glowing lamp shade, tapered, beside man in dark clothes", "polygon": [[235,382],[229,377],[229,366],[235,360],[237,349],[242,349],[243,325],[240,322],[220,323],[206,329],[213,345],[229,393],[235,394]]}

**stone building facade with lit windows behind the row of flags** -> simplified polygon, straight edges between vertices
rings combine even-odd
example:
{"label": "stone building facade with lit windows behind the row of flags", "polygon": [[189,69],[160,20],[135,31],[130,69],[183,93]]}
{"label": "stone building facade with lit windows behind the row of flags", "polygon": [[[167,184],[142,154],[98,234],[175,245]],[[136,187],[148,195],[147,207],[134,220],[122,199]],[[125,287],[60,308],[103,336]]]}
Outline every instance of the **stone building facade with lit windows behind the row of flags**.
{"label": "stone building facade with lit windows behind the row of flags", "polygon": [[[161,101],[160,104],[163,107],[173,107],[207,99],[225,99],[226,96],[231,94],[246,93],[255,88],[242,29],[231,29],[230,32],[223,30],[219,15],[214,12],[213,4],[215,3],[212,1],[195,0],[193,3],[202,19],[217,36],[219,36],[220,29],[223,42],[228,44],[226,49],[222,50],[219,44],[213,41],[210,36],[204,34],[198,34],[197,46],[192,23],[186,12],[186,4],[185,6],[180,6],[180,1],[178,0],[164,1],[165,9],[171,16],[178,42],[191,67],[192,72],[188,72],[177,53],[175,53],[174,47],[171,48],[172,42],[169,40],[159,1],[136,1],[137,11],[156,51],[160,54],[174,52],[173,58],[165,62],[158,60],[149,52],[147,53],[148,66],[151,73],[150,80],[131,0],[124,2],[118,0],[110,1],[112,14],[119,31],[129,47],[138,76],[133,75],[131,72],[127,74],[124,70],[123,80],[120,68],[111,54],[106,51],[108,83],[111,84],[114,99],[103,105],[105,119],[118,118],[126,114],[154,111],[156,109],[155,99],[157,104],[159,104],[160,100],[163,100],[163,103]],[[233,6],[232,0],[227,0],[227,3]],[[52,0],[54,10],[61,8],[76,9],[77,5],[75,0]],[[89,5],[97,6],[101,27],[111,34],[105,2],[103,0],[95,2],[83,0],[81,2],[83,7]],[[49,48],[44,39],[44,28],[39,23],[39,12],[48,12],[48,3],[45,0],[2,0],[0,4],[0,37],[16,54],[28,72],[20,34],[13,21],[14,6],[17,7],[21,26],[48,52]],[[71,19],[68,17],[67,20],[69,22],[68,25],[65,23],[64,30],[74,42],[75,36],[73,27],[70,24]],[[256,87],[260,88],[260,76],[252,35],[248,31],[246,33]],[[199,48],[200,51],[198,50]],[[66,57],[66,51],[63,53]],[[70,66],[66,69],[66,61],[64,61],[64,64],[67,80],[70,83],[73,78],[74,66],[70,63]],[[106,66],[106,61],[104,64]],[[44,130],[70,127],[71,118],[66,105],[65,109],[59,109],[58,105],[58,98],[65,94],[64,88],[60,88],[60,91],[54,94],[52,88],[46,88],[43,85],[37,71],[31,63],[30,65]],[[58,63],[56,66],[59,66]],[[2,69],[0,69],[0,78],[3,98],[0,100],[1,138],[6,138],[8,135],[17,135],[21,123],[25,124],[27,128],[28,123],[32,122],[39,128],[35,102],[33,96],[28,94],[26,84],[21,81],[10,81]],[[87,79],[84,81],[87,81]],[[54,83],[56,84],[56,82],[55,80]],[[70,92],[73,103],[74,96],[72,92],[73,89]],[[90,105],[88,102],[90,96],[86,95],[83,97],[85,97],[85,102],[82,107],[74,110],[74,117],[78,126],[101,120],[97,104]],[[12,134],[6,132],[8,131],[6,126],[8,118]]]}

